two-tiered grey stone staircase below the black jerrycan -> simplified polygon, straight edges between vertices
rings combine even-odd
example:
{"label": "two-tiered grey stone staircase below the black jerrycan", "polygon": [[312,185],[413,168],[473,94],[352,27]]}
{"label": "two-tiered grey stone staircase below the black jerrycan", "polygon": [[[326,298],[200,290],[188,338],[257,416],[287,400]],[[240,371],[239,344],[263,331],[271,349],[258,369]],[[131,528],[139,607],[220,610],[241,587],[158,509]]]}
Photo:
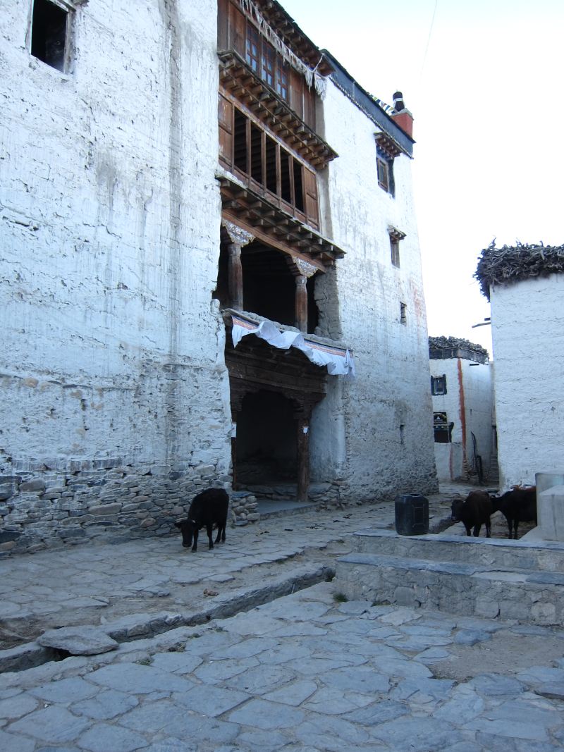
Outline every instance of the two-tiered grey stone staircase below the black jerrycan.
{"label": "two-tiered grey stone staircase below the black jerrycan", "polygon": [[564,544],[384,529],[353,539],[335,579],[349,600],[544,626],[564,620]]}

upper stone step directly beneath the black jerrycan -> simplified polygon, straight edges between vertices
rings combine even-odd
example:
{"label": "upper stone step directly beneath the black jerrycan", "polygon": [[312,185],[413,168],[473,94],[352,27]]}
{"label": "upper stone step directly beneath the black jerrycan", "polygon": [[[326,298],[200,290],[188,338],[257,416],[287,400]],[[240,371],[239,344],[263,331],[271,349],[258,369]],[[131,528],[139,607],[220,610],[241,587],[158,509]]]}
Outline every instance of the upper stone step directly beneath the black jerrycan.
{"label": "upper stone step directly beneath the black jerrycan", "polygon": [[434,561],[468,562],[527,572],[564,572],[564,544],[466,535],[398,535],[380,528],[353,535],[354,550]]}

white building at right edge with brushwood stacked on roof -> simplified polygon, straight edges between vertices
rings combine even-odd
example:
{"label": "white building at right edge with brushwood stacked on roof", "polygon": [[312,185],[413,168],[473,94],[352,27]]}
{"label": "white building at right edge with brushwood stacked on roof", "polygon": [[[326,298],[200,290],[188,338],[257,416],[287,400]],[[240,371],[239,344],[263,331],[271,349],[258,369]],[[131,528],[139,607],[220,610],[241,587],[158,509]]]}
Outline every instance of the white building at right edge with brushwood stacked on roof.
{"label": "white building at right edge with brushwood stacked on roof", "polygon": [[502,488],[564,472],[564,246],[484,249]]}

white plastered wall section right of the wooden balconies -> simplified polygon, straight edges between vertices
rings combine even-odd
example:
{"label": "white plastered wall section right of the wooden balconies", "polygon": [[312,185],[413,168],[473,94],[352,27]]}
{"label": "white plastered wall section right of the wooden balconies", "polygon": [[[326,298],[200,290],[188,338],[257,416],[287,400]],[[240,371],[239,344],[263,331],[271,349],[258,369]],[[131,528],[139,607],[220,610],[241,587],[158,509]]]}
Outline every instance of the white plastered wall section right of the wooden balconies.
{"label": "white plastered wall section right of the wooden balconies", "polygon": [[[395,197],[378,186],[374,133],[378,128],[329,83],[323,102],[324,138],[338,152],[320,181],[323,232],[346,255],[337,262],[342,339],[353,350],[356,381],[336,386],[316,411],[341,421],[344,445],[325,447],[356,498],[436,489],[429,391],[428,339],[411,162],[394,161]],[[391,263],[389,227],[405,232],[400,268]],[[400,322],[400,303],[407,323]],[[332,392],[341,391],[337,398]],[[315,453],[314,453],[315,457]],[[315,462],[315,459],[314,459]],[[315,464],[314,464],[315,470]]]}

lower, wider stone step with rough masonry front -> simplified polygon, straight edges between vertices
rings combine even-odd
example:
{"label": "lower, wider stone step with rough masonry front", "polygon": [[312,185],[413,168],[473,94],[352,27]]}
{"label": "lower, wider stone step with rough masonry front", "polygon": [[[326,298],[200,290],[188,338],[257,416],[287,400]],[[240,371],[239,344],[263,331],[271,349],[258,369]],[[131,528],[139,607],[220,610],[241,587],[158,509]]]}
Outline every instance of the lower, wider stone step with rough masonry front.
{"label": "lower, wider stone step with rough masonry front", "polygon": [[336,584],[347,599],[375,604],[543,626],[564,619],[562,572],[350,553],[337,561]]}

